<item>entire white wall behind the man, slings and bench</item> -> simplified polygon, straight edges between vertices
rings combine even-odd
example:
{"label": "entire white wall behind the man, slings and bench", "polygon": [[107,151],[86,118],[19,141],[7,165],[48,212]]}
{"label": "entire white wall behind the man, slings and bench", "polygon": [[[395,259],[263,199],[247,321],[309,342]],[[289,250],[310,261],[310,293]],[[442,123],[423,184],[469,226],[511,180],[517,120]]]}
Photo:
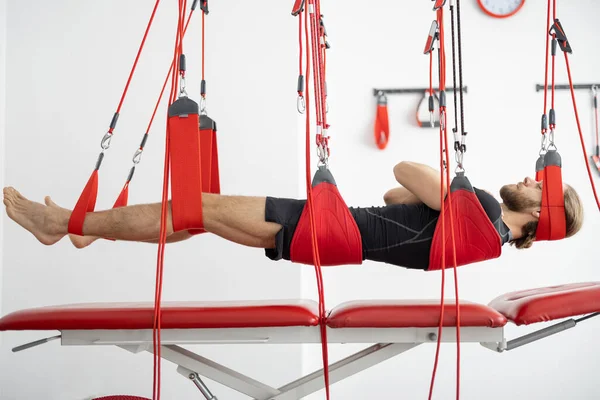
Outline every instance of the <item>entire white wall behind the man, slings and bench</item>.
{"label": "entire white wall behind the man, slings and bench", "polygon": [[[494,21],[478,11],[475,2],[463,2],[464,77],[469,86],[465,106],[470,132],[466,167],[476,186],[497,190],[533,173],[542,108],[542,95],[534,90],[543,80],[542,3],[528,2],[517,16]],[[270,2],[260,12],[246,2],[211,6],[214,33],[209,54],[212,51],[215,59],[207,66],[209,111],[219,123],[225,193],[304,196],[299,178],[303,152],[290,150],[301,143],[303,135],[297,130],[295,111],[297,25],[289,16],[290,6]],[[141,10],[138,5],[117,1],[95,3],[92,8],[88,3],[56,0],[39,2],[32,12],[21,2],[8,5],[7,184],[38,201],[51,194],[59,204],[74,204],[93,167],[150,8]],[[322,11],[333,46],[328,53],[331,167],[350,205],[381,204],[383,193],[395,185],[391,170],[396,162],[410,159],[437,165],[436,132],[412,123],[418,96],[390,98],[389,147],[379,151],[373,146],[375,105],[371,94],[373,87],[427,83],[428,57],[422,55],[422,47],[434,14],[429,3],[401,6],[387,1],[354,7],[323,2]],[[594,19],[599,11],[600,5],[593,0],[559,3],[560,18],[575,51],[571,68],[577,82],[600,80],[596,67],[600,54],[590,50],[600,33]],[[101,172],[100,208],[114,200],[145,129],[168,65],[174,18],[171,9],[156,21],[146,62],[142,61],[132,84]],[[65,34],[67,31],[76,34]],[[199,49],[197,36],[190,40],[188,48]],[[197,65],[197,53],[188,56],[190,68]],[[565,82],[564,63],[558,61],[558,80]],[[197,85],[197,76],[191,75],[190,86]],[[577,96],[591,148],[589,94],[578,92]],[[557,109],[564,174],[584,198],[585,226],[573,239],[539,244],[525,252],[506,248],[501,259],[461,268],[463,299],[487,303],[512,290],[598,279],[594,269],[598,255],[592,251],[592,240],[600,218],[568,92],[559,93]],[[153,130],[158,137],[149,141],[132,187],[132,203],[160,198],[163,127],[164,118],[159,116]],[[597,178],[596,184],[600,185]],[[42,247],[14,224],[7,224],[6,229],[3,313],[46,304],[152,298],[154,246],[97,243],[78,252],[66,242]],[[261,251],[216,238],[172,246],[166,260],[165,299],[316,298],[313,268],[269,263]],[[439,298],[437,273],[365,263],[327,269],[324,277],[329,308],[351,299]],[[452,283],[449,278],[448,291]],[[592,365],[600,355],[593,341],[597,328],[598,321],[592,320],[506,354],[463,345],[462,398],[597,398],[600,386]],[[507,335],[511,338],[532,329],[508,326]],[[3,336],[2,398],[37,398],[43,393],[50,399],[77,399],[108,392],[149,396],[150,357],[133,357],[116,349],[59,348],[57,344],[12,354],[11,347],[40,335]],[[285,357],[263,346],[230,351],[206,348],[204,354],[273,385],[293,379],[301,367],[306,372],[320,368],[319,346],[305,346],[303,351],[285,349]],[[330,349],[335,360],[357,347],[332,345]],[[434,346],[422,346],[336,384],[333,398],[425,397],[434,352]],[[454,346],[443,346],[436,381],[438,398],[453,396],[454,359]],[[86,368],[81,368],[82,363]],[[163,371],[165,398],[197,398],[173,369]],[[31,384],[32,374],[35,385]],[[568,394],[564,388],[569,388]],[[215,389],[220,398],[241,398],[218,385]],[[323,398],[323,392],[310,397]]]}

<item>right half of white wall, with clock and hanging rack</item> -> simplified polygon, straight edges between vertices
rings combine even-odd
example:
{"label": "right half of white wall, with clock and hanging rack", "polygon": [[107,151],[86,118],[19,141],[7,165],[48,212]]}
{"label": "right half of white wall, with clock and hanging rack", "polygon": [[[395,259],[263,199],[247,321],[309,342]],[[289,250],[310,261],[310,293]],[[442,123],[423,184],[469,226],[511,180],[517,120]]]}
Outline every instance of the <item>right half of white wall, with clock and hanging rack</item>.
{"label": "right half of white wall, with clock and hanging rack", "polygon": [[[408,3],[408,2],[407,2]],[[373,143],[374,87],[428,85],[429,57],[422,54],[431,21],[431,2],[371,1],[350,7],[323,2],[332,45],[328,53],[329,121],[332,136],[331,168],[347,203],[380,205],[383,193],[395,185],[392,167],[400,160],[439,165],[439,136],[415,127],[419,95],[389,97],[391,139],[385,151]],[[527,2],[508,20],[493,20],[477,2],[462,2],[464,82],[468,153],[466,168],[474,185],[497,192],[501,185],[532,176],[539,149],[545,50],[545,4]],[[559,1],[559,18],[572,43],[573,79],[600,81],[597,48],[600,33],[597,1]],[[449,13],[448,13],[449,14]],[[450,21],[447,34],[450,35]],[[451,85],[451,48],[448,39],[448,82]],[[557,81],[567,82],[564,57],[557,57]],[[448,102],[452,104],[452,96]],[[592,145],[590,94],[577,92],[587,149]],[[540,243],[519,252],[505,248],[494,261],[460,268],[459,295],[487,304],[497,295],[538,286],[598,280],[597,232],[600,213],[593,200],[568,91],[558,93],[557,144],[564,175],[583,197],[585,225],[577,237],[561,243]],[[449,112],[449,115],[452,115]],[[450,127],[454,126],[453,118]],[[600,190],[600,179],[594,176]],[[304,272],[303,292],[315,296],[315,275]],[[452,274],[448,274],[452,275]],[[447,295],[453,296],[448,276]],[[365,263],[324,272],[326,304],[381,298],[440,296],[439,273],[421,273]],[[600,397],[600,383],[592,363],[600,355],[596,343],[600,320],[506,354],[479,345],[463,345],[462,396],[471,399],[577,399]],[[508,338],[535,328],[508,326]],[[333,360],[359,346],[331,345]],[[435,398],[454,398],[456,346],[442,346]],[[334,399],[426,398],[435,345],[424,345],[332,386]],[[305,372],[321,367],[319,346],[307,346]],[[539,374],[539,375],[535,375]],[[565,388],[568,389],[568,393]],[[311,396],[322,399],[323,392]]]}

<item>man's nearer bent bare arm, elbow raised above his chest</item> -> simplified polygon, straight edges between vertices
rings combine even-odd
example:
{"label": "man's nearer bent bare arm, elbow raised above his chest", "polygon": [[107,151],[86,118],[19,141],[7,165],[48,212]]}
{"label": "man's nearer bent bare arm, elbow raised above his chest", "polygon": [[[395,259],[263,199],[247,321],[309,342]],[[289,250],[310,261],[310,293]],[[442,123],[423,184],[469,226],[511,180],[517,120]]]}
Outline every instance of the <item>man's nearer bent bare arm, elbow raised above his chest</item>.
{"label": "man's nearer bent bare arm, elbow raised above his chest", "polygon": [[[398,183],[405,188],[406,192],[410,193],[414,198],[434,210],[439,211],[441,209],[441,180],[439,171],[425,164],[402,161],[394,167],[394,176]],[[446,195],[446,190],[446,185],[444,185],[444,196]],[[411,199],[406,192],[403,196],[406,196],[409,200],[416,201],[415,199]]]}

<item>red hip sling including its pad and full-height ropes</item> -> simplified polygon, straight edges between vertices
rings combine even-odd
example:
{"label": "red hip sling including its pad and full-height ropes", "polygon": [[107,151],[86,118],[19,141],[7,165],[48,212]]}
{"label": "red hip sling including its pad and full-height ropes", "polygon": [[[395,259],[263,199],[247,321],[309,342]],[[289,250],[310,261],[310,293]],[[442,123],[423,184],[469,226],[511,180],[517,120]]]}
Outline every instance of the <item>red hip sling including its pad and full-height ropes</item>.
{"label": "red hip sling including its pad and full-height ropes", "polygon": [[[306,192],[307,200],[300,220],[294,231],[290,247],[292,262],[313,264],[317,277],[319,293],[319,320],[323,355],[325,393],[329,399],[329,356],[327,348],[326,311],[321,267],[323,265],[342,265],[362,263],[362,240],[360,232],[340,195],[333,175],[328,168],[329,137],[327,136],[327,94],[325,83],[325,53],[329,48],[320,0],[296,0],[292,15],[302,19],[304,13],[304,31],[306,39],[306,81],[302,72],[298,78],[298,111],[306,111]],[[310,32],[310,35],[309,35]],[[300,37],[302,25],[300,24]],[[310,36],[310,37],[309,37]],[[312,50],[312,51],[311,51]],[[302,40],[300,39],[302,55]],[[308,82],[310,71],[314,71],[314,98],[316,113],[316,144],[319,153],[319,167],[311,181],[310,157],[310,94]],[[302,67],[302,61],[300,61]],[[300,86],[306,82],[306,87]],[[305,94],[305,95],[304,95]]]}

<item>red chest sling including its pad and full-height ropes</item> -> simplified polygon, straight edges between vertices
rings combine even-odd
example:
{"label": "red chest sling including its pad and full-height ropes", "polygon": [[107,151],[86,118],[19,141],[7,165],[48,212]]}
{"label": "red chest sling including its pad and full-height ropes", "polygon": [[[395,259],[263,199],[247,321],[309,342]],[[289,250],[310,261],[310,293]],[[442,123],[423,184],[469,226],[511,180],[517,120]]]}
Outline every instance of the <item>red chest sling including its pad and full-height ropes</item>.
{"label": "red chest sling including its pad and full-height ropes", "polygon": [[[456,84],[456,50],[455,50],[455,26],[454,26],[454,3],[450,3],[452,24],[452,63],[454,79],[454,150],[457,161],[457,173],[450,183],[450,160],[447,135],[447,109],[446,109],[446,54],[444,34],[444,10],[445,0],[435,2],[434,11],[437,19],[433,22],[429,37],[425,46],[425,54],[430,56],[430,95],[433,93],[431,75],[436,40],[439,40],[439,120],[440,120],[440,217],[438,218],[434,237],[431,245],[428,271],[441,270],[441,304],[440,322],[438,326],[437,348],[434,367],[429,388],[429,399],[433,397],[435,376],[439,362],[439,354],[442,342],[444,310],[445,310],[445,269],[451,265],[454,270],[454,295],[456,310],[456,398],[460,398],[460,300],[458,294],[458,271],[457,267],[478,261],[497,258],[501,253],[501,238],[496,228],[490,221],[485,210],[481,206],[471,183],[467,179],[463,168],[463,157],[466,152],[464,106],[463,106],[463,81],[462,81],[462,40],[461,40],[461,16],[460,0],[456,1],[456,20],[458,25],[458,72],[460,79],[460,91],[457,95]],[[458,135],[458,105],[457,97],[460,96],[461,110],[461,137]],[[430,109],[431,112],[431,109]],[[444,187],[448,188],[444,195]]]}

